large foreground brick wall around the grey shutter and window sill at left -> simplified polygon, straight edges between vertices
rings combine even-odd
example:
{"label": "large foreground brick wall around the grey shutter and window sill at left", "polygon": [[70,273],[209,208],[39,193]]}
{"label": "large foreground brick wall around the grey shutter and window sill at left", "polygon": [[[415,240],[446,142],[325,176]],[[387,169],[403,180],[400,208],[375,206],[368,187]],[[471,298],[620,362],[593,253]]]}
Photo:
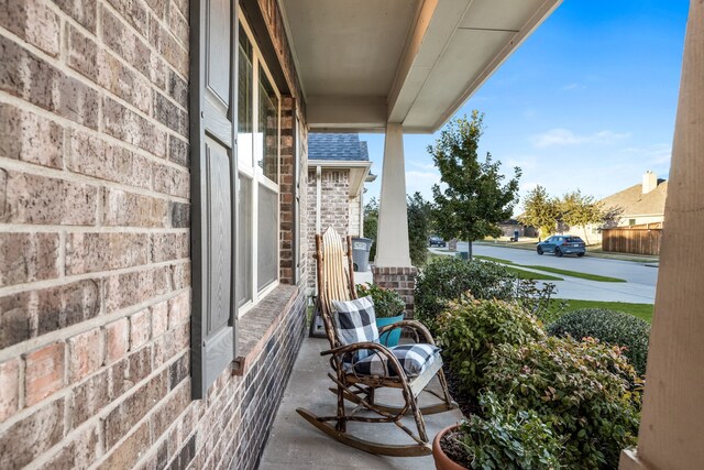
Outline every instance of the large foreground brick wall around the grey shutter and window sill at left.
{"label": "large foreground brick wall around the grey shutter and window sill at left", "polygon": [[256,464],[305,298],[191,401],[187,19],[0,2],[0,467]]}

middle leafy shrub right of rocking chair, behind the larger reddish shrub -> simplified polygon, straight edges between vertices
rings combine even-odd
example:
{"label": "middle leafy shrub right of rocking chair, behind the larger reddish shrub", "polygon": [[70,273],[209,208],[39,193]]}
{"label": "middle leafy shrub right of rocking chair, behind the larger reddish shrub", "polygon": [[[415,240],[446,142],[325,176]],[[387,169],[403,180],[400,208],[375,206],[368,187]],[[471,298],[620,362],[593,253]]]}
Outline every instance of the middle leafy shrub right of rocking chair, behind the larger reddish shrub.
{"label": "middle leafy shrub right of rocking chair, behind the larger reddish shrub", "polygon": [[464,298],[438,317],[442,357],[460,381],[460,392],[475,394],[484,384],[492,350],[544,337],[538,320],[516,303]]}

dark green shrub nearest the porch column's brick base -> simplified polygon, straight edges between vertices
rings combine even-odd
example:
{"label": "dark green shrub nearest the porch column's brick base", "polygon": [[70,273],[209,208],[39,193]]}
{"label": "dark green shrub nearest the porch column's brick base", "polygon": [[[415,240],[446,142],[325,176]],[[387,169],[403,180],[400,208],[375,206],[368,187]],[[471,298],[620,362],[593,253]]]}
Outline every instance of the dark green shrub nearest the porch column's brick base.
{"label": "dark green shrub nearest the porch column's brick base", "polygon": [[416,278],[414,310],[432,334],[446,305],[470,292],[475,298],[512,299],[515,276],[499,264],[442,256],[431,260]]}

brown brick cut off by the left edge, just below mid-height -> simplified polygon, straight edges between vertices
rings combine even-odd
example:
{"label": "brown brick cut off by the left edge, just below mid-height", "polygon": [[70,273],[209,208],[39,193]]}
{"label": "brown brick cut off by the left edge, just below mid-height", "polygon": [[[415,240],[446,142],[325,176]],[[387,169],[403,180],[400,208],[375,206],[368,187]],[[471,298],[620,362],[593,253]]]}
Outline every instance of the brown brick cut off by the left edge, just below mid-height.
{"label": "brown brick cut off by the left edge, just below mid-height", "polygon": [[0,233],[0,287],[58,277],[58,233]]}

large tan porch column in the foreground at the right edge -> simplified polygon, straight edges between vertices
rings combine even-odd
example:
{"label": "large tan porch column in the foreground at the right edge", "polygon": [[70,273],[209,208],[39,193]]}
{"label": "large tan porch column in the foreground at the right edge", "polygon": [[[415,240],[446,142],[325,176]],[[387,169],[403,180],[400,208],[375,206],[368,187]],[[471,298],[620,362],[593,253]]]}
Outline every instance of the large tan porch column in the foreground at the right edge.
{"label": "large tan porch column in the foreground at the right edge", "polygon": [[622,470],[704,469],[704,0],[691,0],[638,449]]}

